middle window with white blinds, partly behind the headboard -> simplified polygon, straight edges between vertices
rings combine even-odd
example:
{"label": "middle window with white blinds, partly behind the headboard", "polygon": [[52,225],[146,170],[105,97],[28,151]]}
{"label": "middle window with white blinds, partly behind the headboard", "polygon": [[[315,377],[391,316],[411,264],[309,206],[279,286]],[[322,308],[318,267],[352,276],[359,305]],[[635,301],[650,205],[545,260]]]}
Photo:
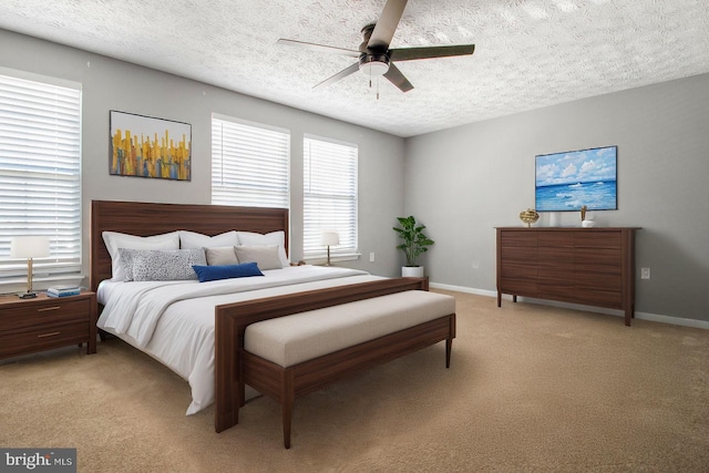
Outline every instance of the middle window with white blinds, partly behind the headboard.
{"label": "middle window with white blinds, partly behind the headboard", "polygon": [[290,207],[290,133],[214,114],[212,203]]}

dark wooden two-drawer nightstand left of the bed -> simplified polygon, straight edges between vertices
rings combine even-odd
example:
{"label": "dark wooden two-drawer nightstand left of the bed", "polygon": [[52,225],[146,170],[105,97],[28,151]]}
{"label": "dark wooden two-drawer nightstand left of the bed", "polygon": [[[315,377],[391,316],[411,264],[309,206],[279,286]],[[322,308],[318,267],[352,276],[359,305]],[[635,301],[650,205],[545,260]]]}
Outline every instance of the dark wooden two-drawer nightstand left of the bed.
{"label": "dark wooden two-drawer nightstand left of the bed", "polygon": [[34,299],[0,296],[0,359],[86,343],[96,352],[96,294]]}

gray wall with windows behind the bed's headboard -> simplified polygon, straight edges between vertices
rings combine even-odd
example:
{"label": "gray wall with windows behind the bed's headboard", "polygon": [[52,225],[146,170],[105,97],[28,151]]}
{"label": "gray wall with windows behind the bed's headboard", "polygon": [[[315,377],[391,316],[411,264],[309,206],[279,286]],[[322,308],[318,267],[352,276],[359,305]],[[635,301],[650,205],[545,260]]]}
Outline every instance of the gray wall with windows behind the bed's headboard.
{"label": "gray wall with windows behind the bed's headboard", "polygon": [[[4,30],[0,30],[0,66],[83,84],[84,271],[92,199],[210,203],[210,116],[216,112],[290,130],[292,260],[302,257],[304,133],[358,144],[362,257],[342,265],[382,276],[399,273],[391,227],[403,212],[403,138]],[[109,175],[110,110],[191,123],[192,181]],[[369,261],[372,251],[374,263]]]}

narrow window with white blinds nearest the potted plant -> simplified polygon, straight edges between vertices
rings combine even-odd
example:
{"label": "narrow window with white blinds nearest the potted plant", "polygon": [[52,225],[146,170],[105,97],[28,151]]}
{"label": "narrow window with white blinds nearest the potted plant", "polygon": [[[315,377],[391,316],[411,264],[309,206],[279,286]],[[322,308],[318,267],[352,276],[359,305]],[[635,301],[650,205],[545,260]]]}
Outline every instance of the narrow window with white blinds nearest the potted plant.
{"label": "narrow window with white blinds nearest the potted plant", "polygon": [[315,136],[304,140],[304,255],[321,257],[321,234],[335,230],[340,244],[330,254],[356,255],[357,145]]}

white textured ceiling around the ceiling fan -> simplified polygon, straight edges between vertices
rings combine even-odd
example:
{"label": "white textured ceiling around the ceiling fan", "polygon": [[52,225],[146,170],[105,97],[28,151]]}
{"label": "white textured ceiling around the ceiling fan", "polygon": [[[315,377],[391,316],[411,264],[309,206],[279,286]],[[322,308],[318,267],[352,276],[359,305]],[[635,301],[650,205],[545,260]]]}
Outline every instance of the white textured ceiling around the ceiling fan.
{"label": "white textured ceiling around the ceiling fan", "polygon": [[0,0],[0,28],[412,136],[709,72],[707,0],[410,0],[391,48],[474,43],[407,61],[415,89],[380,97],[353,60],[384,0]]}

